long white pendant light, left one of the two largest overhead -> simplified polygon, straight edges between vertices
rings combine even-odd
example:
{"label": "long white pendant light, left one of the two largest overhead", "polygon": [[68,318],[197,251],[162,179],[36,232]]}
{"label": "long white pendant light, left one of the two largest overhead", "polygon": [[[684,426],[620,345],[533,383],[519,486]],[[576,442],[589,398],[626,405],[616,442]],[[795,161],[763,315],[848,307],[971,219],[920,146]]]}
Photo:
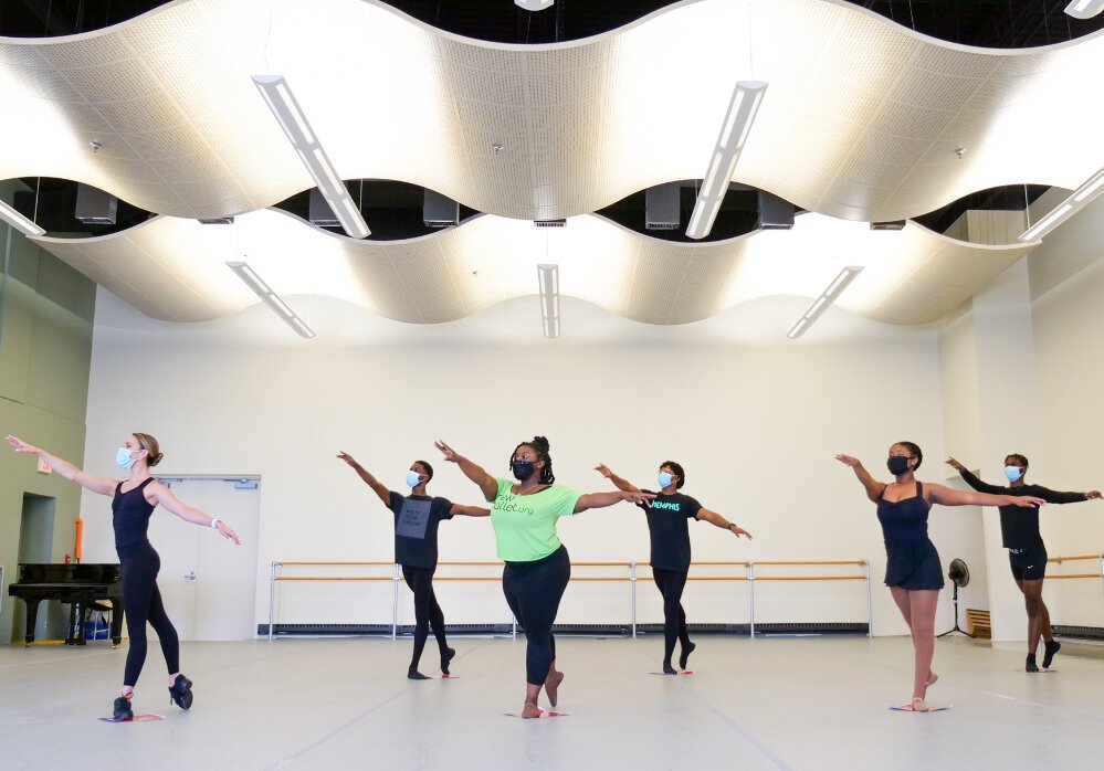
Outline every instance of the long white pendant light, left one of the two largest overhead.
{"label": "long white pendant light, left one of the two largest overhead", "polygon": [[299,154],[303,166],[318,186],[329,208],[334,210],[334,216],[341,223],[345,232],[354,239],[366,239],[371,235],[359,207],[349,196],[340,175],[322,148],[318,137],[311,129],[311,124],[295,101],[295,95],[287,87],[287,81],[282,75],[253,75],[253,83],[269,104],[272,114],[276,116],[292,147]]}

